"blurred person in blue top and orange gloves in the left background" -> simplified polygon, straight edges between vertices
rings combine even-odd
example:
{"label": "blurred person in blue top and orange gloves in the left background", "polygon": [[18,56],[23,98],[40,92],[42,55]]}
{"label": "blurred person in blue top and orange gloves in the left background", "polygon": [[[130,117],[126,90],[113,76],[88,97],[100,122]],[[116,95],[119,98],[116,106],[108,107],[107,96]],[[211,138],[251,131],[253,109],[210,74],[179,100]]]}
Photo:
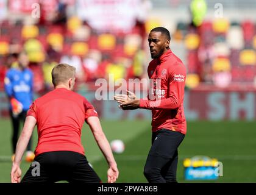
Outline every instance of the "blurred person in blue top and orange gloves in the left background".
{"label": "blurred person in blue top and orange gloves in the left background", "polygon": [[[25,52],[18,55],[18,67],[10,68],[4,79],[5,92],[10,102],[10,118],[12,119],[12,160],[14,159],[20,122],[26,119],[27,110],[33,101],[33,73],[27,68],[29,60]],[[26,161],[34,160],[32,140],[29,141],[26,152]]]}

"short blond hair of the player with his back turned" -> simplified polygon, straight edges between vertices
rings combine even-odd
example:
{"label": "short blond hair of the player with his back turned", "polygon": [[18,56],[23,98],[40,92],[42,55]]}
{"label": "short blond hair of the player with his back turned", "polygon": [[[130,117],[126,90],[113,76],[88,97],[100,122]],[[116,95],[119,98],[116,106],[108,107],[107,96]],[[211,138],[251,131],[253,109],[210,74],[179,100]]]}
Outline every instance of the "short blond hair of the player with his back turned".
{"label": "short blond hair of the player with his back turned", "polygon": [[74,78],[75,74],[76,68],[74,68],[74,66],[60,63],[52,69],[52,83],[54,86],[59,85],[60,83],[65,83],[68,79]]}

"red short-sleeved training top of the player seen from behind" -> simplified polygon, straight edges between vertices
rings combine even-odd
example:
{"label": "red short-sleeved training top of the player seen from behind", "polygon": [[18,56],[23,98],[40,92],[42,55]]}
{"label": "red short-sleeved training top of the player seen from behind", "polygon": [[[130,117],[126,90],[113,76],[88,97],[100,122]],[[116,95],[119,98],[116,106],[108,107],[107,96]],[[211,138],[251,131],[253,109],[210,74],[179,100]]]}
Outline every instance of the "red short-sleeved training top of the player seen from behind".
{"label": "red short-sleeved training top of the player seen from behind", "polygon": [[65,88],[57,88],[35,100],[27,116],[37,119],[37,156],[51,151],[84,154],[80,141],[82,126],[88,117],[98,114],[83,96]]}

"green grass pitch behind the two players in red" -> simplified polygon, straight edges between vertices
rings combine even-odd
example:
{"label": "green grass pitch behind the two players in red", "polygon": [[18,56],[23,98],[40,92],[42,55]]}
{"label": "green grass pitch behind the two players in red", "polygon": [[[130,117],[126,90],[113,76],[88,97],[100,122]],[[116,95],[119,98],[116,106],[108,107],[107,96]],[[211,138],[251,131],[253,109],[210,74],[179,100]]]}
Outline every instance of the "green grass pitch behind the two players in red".
{"label": "green grass pitch behind the two players in red", "polygon": [[[146,182],[143,167],[150,148],[151,121],[104,121],[102,127],[109,141],[123,140],[126,149],[123,154],[115,154],[119,168],[118,182]],[[218,180],[196,182],[256,182],[256,121],[188,122],[185,139],[179,147],[178,182],[184,180],[182,161],[194,155],[215,157],[223,163],[223,176]],[[10,182],[11,128],[8,119],[0,120],[0,182]],[[37,132],[34,130],[34,147]],[[101,177],[107,181],[107,163],[85,124],[82,143],[88,161]],[[24,173],[29,163],[23,161]]]}

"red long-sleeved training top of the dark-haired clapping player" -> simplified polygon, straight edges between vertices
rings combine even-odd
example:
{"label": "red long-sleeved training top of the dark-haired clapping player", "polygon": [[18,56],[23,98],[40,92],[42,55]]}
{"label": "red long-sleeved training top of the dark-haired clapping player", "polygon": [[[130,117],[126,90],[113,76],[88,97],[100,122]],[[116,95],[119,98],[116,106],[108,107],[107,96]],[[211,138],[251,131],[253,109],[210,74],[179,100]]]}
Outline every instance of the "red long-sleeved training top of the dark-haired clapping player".
{"label": "red long-sleeved training top of the dark-haired clapping player", "polygon": [[[169,50],[149,63],[148,75],[149,79],[161,79],[160,87],[153,84],[149,88],[148,100],[140,100],[140,108],[152,110],[152,131],[169,129],[186,134],[183,108],[186,68],[182,61]],[[156,95],[153,100],[152,95]]]}

